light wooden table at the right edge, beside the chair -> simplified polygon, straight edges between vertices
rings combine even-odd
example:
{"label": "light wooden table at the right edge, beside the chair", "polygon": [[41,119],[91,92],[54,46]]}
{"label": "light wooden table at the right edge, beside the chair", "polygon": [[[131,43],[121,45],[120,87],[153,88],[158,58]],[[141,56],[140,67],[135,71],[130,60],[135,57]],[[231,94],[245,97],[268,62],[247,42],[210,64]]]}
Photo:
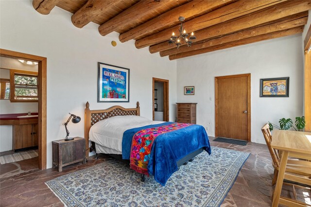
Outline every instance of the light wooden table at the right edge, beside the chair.
{"label": "light wooden table at the right edge, beside the chair", "polygon": [[[289,130],[274,130],[271,146],[275,149],[283,151],[276,181],[276,189],[273,196],[272,207],[277,207],[279,203],[286,206],[299,206],[295,201],[280,197],[280,194],[284,178],[300,183],[305,183],[304,181],[300,180],[299,177],[285,173],[285,168],[289,155],[311,160],[311,133]],[[310,185],[310,183],[305,184]]]}

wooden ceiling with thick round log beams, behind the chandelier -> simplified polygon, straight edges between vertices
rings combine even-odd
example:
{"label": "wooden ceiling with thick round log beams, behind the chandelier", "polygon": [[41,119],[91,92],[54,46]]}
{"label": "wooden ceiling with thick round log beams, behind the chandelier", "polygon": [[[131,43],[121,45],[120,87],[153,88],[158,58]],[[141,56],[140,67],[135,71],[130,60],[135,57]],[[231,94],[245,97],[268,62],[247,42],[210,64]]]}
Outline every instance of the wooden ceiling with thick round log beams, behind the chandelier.
{"label": "wooden ceiling with thick round log beams, behind the chandelier", "polygon": [[[140,49],[170,60],[302,33],[311,0],[33,0],[47,15],[54,6],[73,13],[78,28],[99,24],[99,33],[120,33]],[[184,27],[197,37],[191,47],[169,44],[185,17]]]}

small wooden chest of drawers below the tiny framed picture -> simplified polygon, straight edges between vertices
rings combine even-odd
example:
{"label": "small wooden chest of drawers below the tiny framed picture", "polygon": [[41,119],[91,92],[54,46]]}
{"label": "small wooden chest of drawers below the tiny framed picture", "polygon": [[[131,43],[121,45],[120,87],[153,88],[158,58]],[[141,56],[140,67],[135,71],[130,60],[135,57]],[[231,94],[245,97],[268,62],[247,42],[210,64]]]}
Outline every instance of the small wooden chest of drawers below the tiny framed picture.
{"label": "small wooden chest of drawers below the tiny framed picture", "polygon": [[197,103],[176,103],[177,122],[196,123],[196,104]]}

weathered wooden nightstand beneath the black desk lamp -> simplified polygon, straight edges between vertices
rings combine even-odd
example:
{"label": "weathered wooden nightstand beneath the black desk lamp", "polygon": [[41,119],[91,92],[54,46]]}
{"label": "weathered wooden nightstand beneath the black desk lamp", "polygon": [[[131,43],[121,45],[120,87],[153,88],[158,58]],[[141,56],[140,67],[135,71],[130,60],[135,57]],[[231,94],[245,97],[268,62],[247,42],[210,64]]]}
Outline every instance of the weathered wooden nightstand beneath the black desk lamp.
{"label": "weathered wooden nightstand beneath the black desk lamp", "polygon": [[52,141],[52,164],[53,168],[58,167],[58,172],[63,171],[63,166],[76,162],[86,163],[86,140],[76,137],[73,140],[65,141],[60,139]]}

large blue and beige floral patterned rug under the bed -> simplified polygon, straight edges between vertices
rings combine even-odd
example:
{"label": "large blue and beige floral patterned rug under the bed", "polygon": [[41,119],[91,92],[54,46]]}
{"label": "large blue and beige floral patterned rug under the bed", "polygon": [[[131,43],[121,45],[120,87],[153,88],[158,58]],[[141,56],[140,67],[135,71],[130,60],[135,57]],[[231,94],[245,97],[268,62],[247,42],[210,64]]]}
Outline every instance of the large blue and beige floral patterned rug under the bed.
{"label": "large blue and beige floral patterned rug under the bed", "polygon": [[212,147],[212,154],[173,173],[165,187],[153,176],[140,181],[129,166],[108,160],[46,182],[65,206],[218,207],[235,182],[249,154]]}

